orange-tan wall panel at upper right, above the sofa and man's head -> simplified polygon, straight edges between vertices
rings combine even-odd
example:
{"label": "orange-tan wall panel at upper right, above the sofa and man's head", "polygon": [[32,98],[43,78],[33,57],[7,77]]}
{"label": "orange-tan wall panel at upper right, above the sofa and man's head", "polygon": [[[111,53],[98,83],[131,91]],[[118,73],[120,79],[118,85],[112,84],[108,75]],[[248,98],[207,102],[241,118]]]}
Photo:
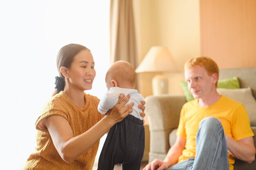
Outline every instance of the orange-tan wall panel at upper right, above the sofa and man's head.
{"label": "orange-tan wall panel at upper right, above the sofa and man's head", "polygon": [[201,0],[202,55],[220,68],[256,66],[256,0]]}

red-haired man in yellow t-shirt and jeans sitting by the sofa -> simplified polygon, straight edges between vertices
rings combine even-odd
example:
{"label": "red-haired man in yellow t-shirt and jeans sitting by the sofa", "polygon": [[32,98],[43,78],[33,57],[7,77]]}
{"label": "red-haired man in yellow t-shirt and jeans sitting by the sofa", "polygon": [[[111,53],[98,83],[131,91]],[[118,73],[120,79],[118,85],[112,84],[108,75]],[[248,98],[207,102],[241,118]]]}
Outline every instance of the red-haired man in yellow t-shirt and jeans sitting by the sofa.
{"label": "red-haired man in yellow t-shirt and jeans sitting by the sofa", "polygon": [[251,163],[256,151],[247,111],[216,91],[216,62],[195,57],[184,71],[195,99],[182,107],[177,139],[164,161],[155,159],[143,170],[233,170],[235,158]]}

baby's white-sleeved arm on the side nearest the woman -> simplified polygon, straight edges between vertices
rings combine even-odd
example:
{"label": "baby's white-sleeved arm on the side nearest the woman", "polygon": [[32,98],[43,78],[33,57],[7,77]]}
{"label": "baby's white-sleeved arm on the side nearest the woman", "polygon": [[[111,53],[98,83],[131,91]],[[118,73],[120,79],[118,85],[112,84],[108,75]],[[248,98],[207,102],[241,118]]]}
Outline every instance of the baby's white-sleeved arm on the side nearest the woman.
{"label": "baby's white-sleeved arm on the side nearest the woman", "polygon": [[119,95],[120,93],[118,91],[115,91],[115,90],[108,91],[99,102],[98,111],[101,114],[106,114],[108,110],[110,110],[117,104]]}

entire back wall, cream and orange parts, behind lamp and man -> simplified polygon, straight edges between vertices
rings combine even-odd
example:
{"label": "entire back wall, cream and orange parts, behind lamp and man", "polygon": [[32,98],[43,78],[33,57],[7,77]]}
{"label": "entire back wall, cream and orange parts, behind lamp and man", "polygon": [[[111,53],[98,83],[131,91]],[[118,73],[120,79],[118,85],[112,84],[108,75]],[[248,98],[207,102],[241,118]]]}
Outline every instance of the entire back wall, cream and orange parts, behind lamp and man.
{"label": "entire back wall, cream and orange parts, behind lamp and man", "polygon": [[[134,0],[139,58],[151,46],[167,46],[178,73],[166,74],[169,94],[184,94],[183,65],[209,56],[220,68],[256,66],[256,0]],[[138,89],[152,95],[157,73],[139,73]]]}

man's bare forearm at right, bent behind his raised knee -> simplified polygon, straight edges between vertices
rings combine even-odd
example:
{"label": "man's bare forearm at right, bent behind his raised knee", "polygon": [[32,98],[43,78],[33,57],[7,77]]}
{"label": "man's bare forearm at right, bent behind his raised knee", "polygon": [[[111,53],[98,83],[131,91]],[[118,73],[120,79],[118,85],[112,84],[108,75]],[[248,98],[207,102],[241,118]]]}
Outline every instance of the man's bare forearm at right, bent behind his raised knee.
{"label": "man's bare forearm at right, bent behind his raised knee", "polygon": [[246,137],[238,141],[226,136],[229,153],[237,159],[252,163],[255,159],[255,146],[253,137]]}

